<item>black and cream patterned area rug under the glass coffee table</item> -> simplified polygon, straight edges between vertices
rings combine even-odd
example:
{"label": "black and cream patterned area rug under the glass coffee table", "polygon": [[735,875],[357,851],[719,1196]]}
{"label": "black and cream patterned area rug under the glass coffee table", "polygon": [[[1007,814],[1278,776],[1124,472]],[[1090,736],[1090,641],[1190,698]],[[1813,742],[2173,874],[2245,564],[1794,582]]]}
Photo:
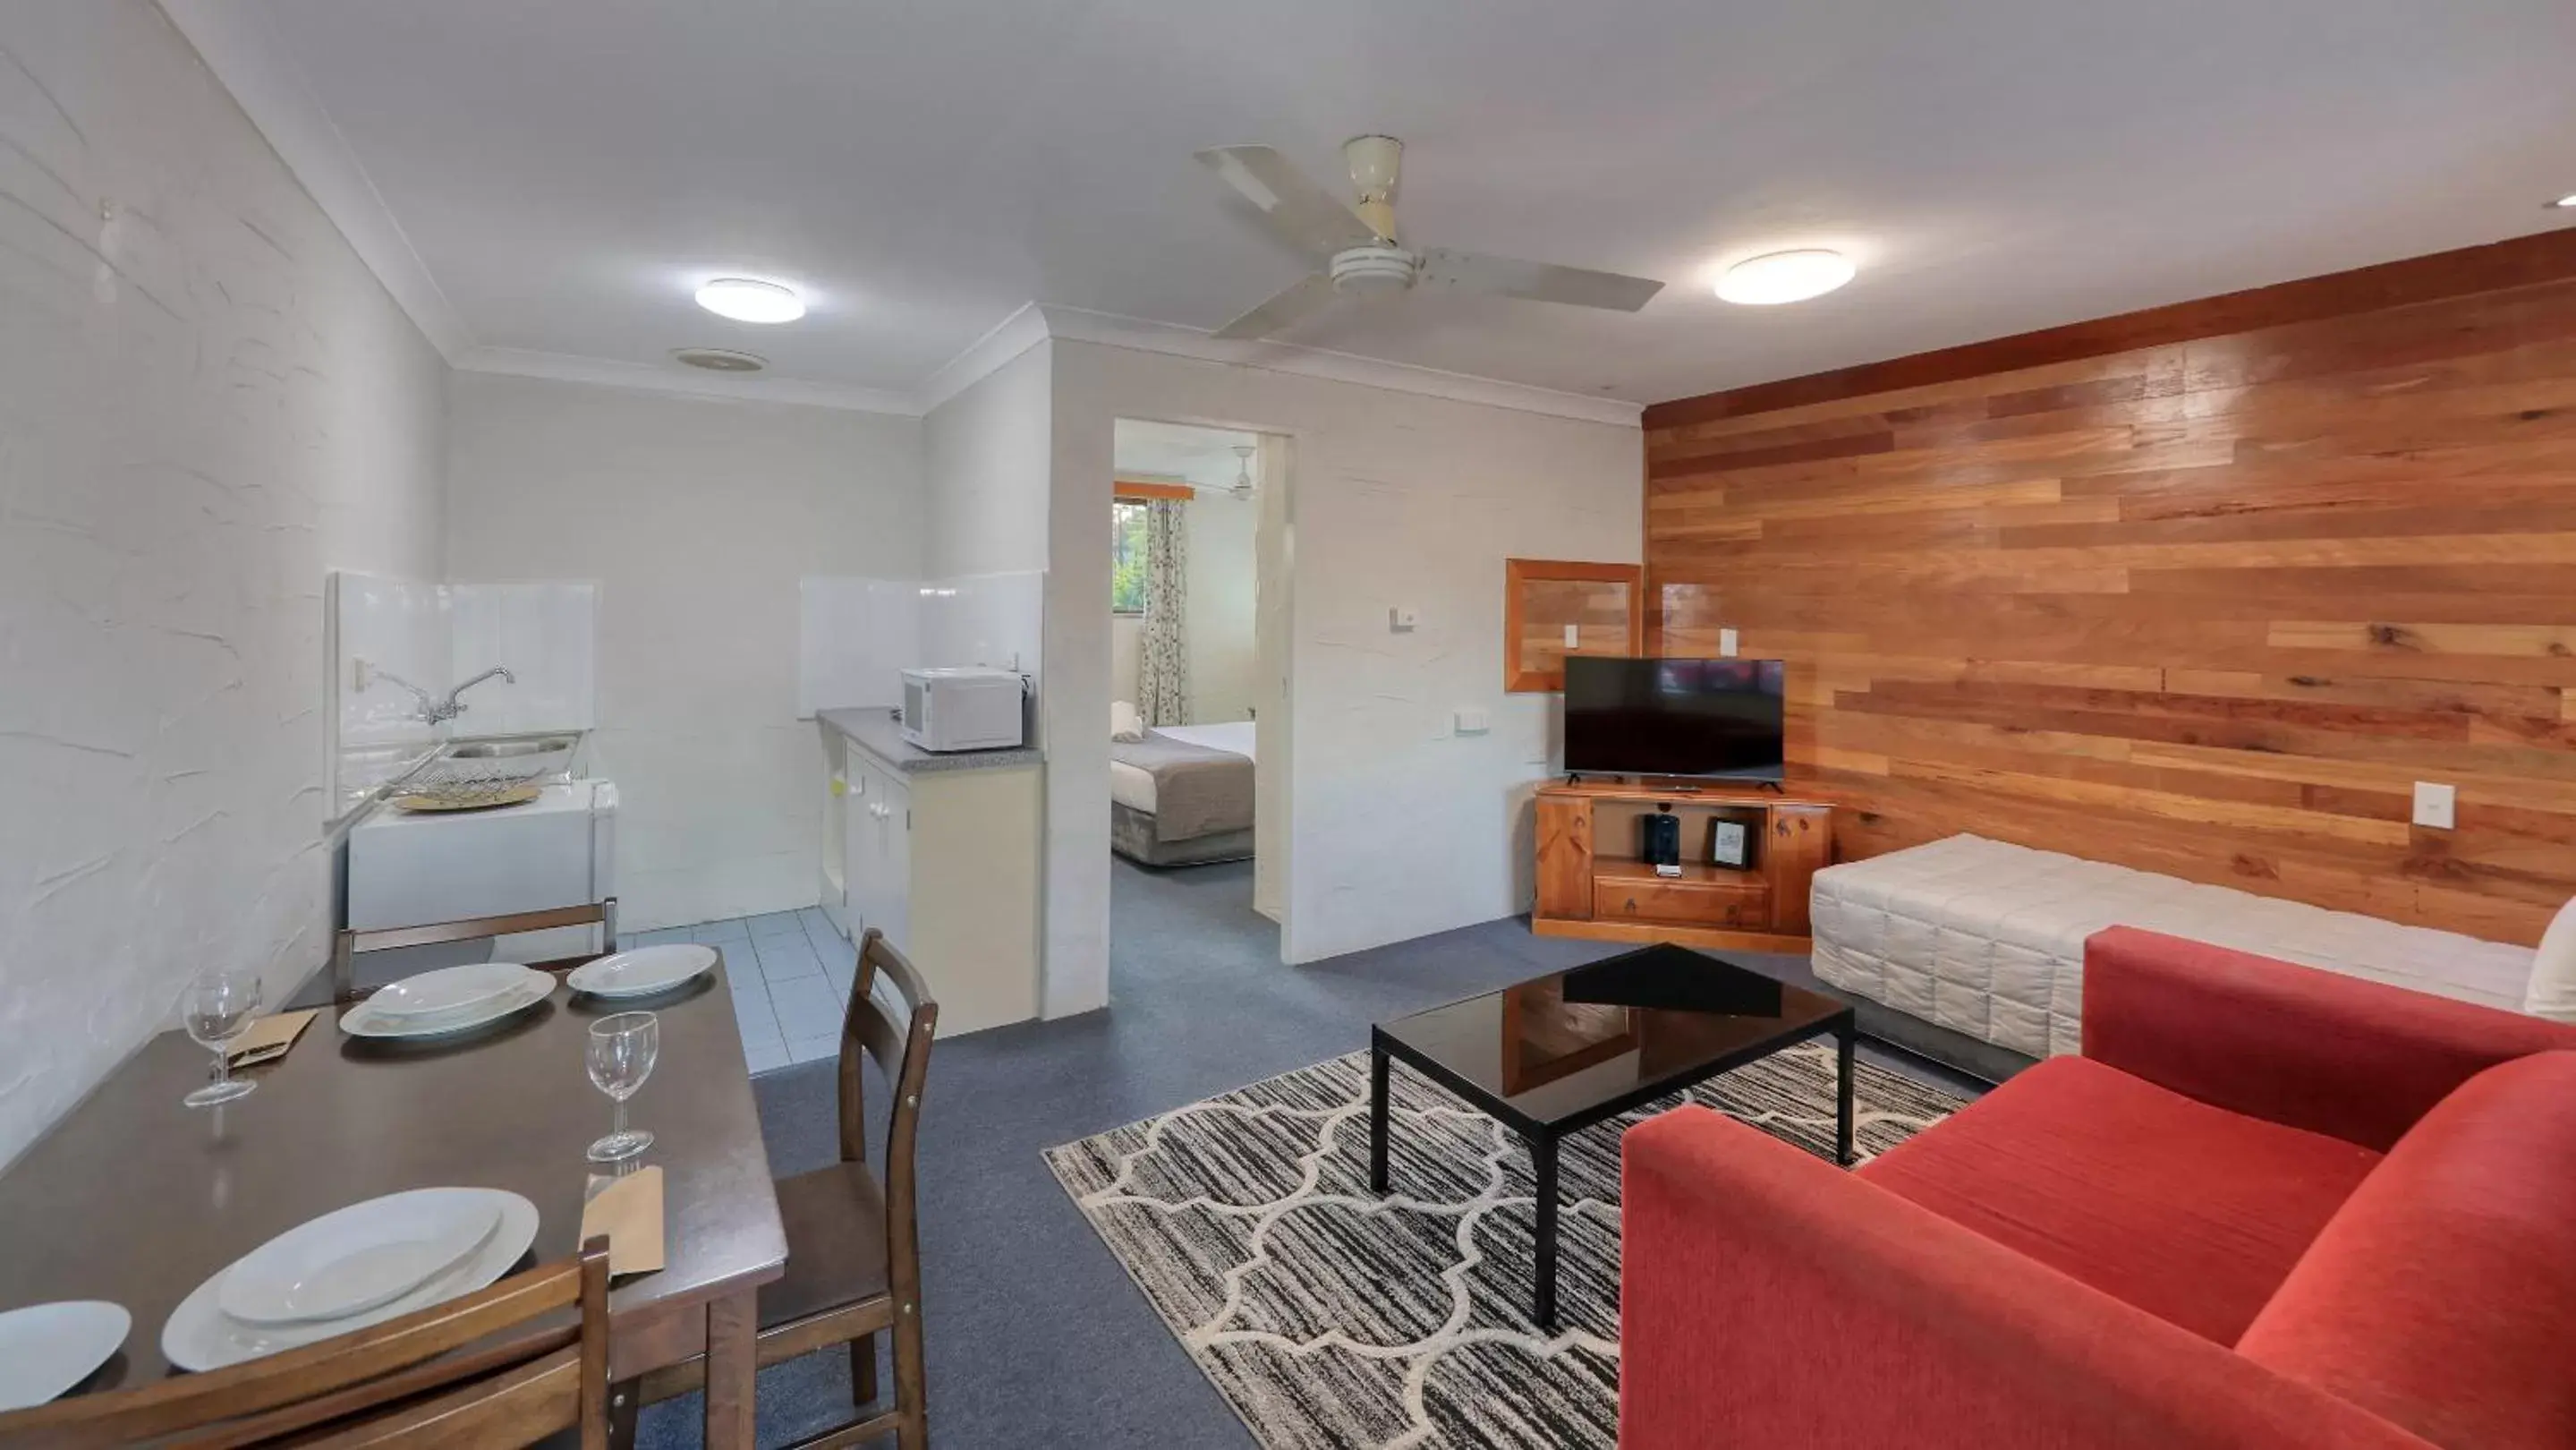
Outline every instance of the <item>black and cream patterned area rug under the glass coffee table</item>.
{"label": "black and cream patterned area rug under the glass coffee table", "polygon": [[[1394,1066],[1368,1192],[1368,1053],[1048,1149],[1046,1164],[1265,1450],[1561,1450],[1618,1440],[1618,1136],[1705,1102],[1834,1151],[1834,1051],[1806,1043],[1566,1138],[1556,1306],[1530,1313],[1530,1154]],[[1860,1156],[1955,1113],[1860,1061]]]}

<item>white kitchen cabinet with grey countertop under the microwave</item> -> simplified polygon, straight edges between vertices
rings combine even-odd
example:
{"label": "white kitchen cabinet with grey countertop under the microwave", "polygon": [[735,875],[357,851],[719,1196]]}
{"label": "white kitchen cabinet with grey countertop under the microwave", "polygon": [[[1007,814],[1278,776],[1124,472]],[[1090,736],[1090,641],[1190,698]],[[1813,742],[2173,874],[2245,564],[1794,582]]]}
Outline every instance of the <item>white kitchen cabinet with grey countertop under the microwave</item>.
{"label": "white kitchen cabinet with grey countertop under the microwave", "polygon": [[940,1033],[1038,1015],[1036,749],[927,755],[884,711],[822,711],[822,909],[922,971]]}

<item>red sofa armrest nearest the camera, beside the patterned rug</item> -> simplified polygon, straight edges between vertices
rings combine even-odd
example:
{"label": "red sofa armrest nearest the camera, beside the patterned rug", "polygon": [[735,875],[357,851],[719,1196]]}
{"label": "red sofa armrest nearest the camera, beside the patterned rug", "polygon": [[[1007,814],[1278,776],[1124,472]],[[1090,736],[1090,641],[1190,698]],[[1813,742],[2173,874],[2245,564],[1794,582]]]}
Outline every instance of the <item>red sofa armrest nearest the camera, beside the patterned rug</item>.
{"label": "red sofa armrest nearest the camera, beside the patterned rug", "polygon": [[2429,1450],[1705,1107],[1620,1190],[1620,1450]]}

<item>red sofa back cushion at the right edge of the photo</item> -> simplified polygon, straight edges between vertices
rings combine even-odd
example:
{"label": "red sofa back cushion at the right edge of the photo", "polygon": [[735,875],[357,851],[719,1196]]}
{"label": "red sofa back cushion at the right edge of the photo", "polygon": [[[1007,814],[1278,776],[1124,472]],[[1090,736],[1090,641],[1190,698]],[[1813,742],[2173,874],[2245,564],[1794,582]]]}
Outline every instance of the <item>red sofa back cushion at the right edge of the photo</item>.
{"label": "red sofa back cushion at the right edge of the photo", "polygon": [[2576,1053],[2491,1066],[2427,1113],[2239,1352],[2434,1445],[2576,1445]]}

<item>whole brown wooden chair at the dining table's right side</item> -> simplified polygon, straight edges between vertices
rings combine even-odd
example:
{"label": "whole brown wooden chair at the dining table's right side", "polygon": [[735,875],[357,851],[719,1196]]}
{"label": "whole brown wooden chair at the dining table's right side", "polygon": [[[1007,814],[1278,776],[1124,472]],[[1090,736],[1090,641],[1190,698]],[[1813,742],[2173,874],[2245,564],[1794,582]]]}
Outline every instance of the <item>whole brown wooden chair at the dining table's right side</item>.
{"label": "whole brown wooden chair at the dining table's right side", "polygon": [[[891,999],[891,1002],[889,1002]],[[788,1229],[786,1277],[760,1288],[760,1368],[835,1344],[850,1347],[850,1401],[860,1417],[793,1450],[832,1450],[894,1435],[902,1450],[930,1445],[922,1370],[922,1241],[914,1221],[912,1151],[930,1077],[940,1004],[904,953],[873,927],[858,945],[850,1010],[840,1022],[840,1162],[778,1180]],[[868,1102],[860,1056],[891,1084],[886,1180],[868,1169]],[[876,1334],[894,1334],[894,1404],[876,1409]],[[706,1383],[706,1360],[644,1378],[644,1401]]]}

